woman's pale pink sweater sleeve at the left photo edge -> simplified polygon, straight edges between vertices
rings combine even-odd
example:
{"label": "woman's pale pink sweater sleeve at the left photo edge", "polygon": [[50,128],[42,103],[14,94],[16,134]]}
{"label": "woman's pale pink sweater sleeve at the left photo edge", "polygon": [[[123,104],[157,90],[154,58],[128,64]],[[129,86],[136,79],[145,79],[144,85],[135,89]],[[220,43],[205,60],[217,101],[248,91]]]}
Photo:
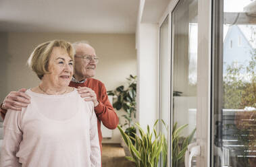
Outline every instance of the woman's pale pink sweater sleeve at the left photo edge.
{"label": "woman's pale pink sweater sleeve at the left photo edge", "polygon": [[8,110],[3,122],[3,145],[1,148],[1,165],[22,166],[16,153],[20,149],[22,141],[22,130],[20,129],[20,112]]}

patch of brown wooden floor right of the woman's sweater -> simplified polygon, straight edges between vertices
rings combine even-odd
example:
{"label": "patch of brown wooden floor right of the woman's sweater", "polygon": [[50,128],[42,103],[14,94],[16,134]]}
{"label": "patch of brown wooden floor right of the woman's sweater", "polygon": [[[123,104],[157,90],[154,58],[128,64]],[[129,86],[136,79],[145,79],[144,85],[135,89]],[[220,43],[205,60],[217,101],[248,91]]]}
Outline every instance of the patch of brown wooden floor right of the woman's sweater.
{"label": "patch of brown wooden floor right of the woman's sweater", "polygon": [[124,157],[124,148],[120,144],[102,144],[102,167],[135,167]]}

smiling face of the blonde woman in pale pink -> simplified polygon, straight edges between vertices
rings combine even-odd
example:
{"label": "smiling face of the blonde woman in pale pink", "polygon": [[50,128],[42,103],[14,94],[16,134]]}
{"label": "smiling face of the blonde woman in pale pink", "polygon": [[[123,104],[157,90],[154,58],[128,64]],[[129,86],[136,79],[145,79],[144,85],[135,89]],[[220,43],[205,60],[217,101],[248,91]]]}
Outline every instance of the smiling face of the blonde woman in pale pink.
{"label": "smiling face of the blonde woman in pale pink", "polygon": [[67,87],[72,79],[73,63],[65,49],[54,47],[49,59],[49,73],[43,76],[43,80],[55,88]]}

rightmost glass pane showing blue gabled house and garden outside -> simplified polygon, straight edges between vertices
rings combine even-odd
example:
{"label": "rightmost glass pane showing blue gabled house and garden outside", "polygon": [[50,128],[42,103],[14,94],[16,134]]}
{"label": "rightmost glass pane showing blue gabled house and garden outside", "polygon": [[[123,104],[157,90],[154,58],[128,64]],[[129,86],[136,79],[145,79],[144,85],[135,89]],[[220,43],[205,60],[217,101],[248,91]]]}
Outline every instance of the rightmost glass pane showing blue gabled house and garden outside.
{"label": "rightmost glass pane showing blue gabled house and garden outside", "polygon": [[[224,0],[214,166],[256,166],[256,1]],[[220,31],[222,31],[220,30]]]}

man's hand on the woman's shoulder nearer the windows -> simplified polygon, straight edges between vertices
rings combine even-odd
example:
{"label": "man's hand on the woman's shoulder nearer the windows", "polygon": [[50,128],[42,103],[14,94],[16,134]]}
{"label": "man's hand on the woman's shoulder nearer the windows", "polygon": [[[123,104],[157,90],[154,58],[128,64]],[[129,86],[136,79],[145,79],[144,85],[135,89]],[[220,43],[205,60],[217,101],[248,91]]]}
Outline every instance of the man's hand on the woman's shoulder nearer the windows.
{"label": "man's hand on the woman's shoulder nearer the windows", "polygon": [[91,88],[79,86],[78,93],[82,98],[84,98],[84,101],[93,101],[94,106],[98,106],[99,102],[97,100],[97,95]]}

